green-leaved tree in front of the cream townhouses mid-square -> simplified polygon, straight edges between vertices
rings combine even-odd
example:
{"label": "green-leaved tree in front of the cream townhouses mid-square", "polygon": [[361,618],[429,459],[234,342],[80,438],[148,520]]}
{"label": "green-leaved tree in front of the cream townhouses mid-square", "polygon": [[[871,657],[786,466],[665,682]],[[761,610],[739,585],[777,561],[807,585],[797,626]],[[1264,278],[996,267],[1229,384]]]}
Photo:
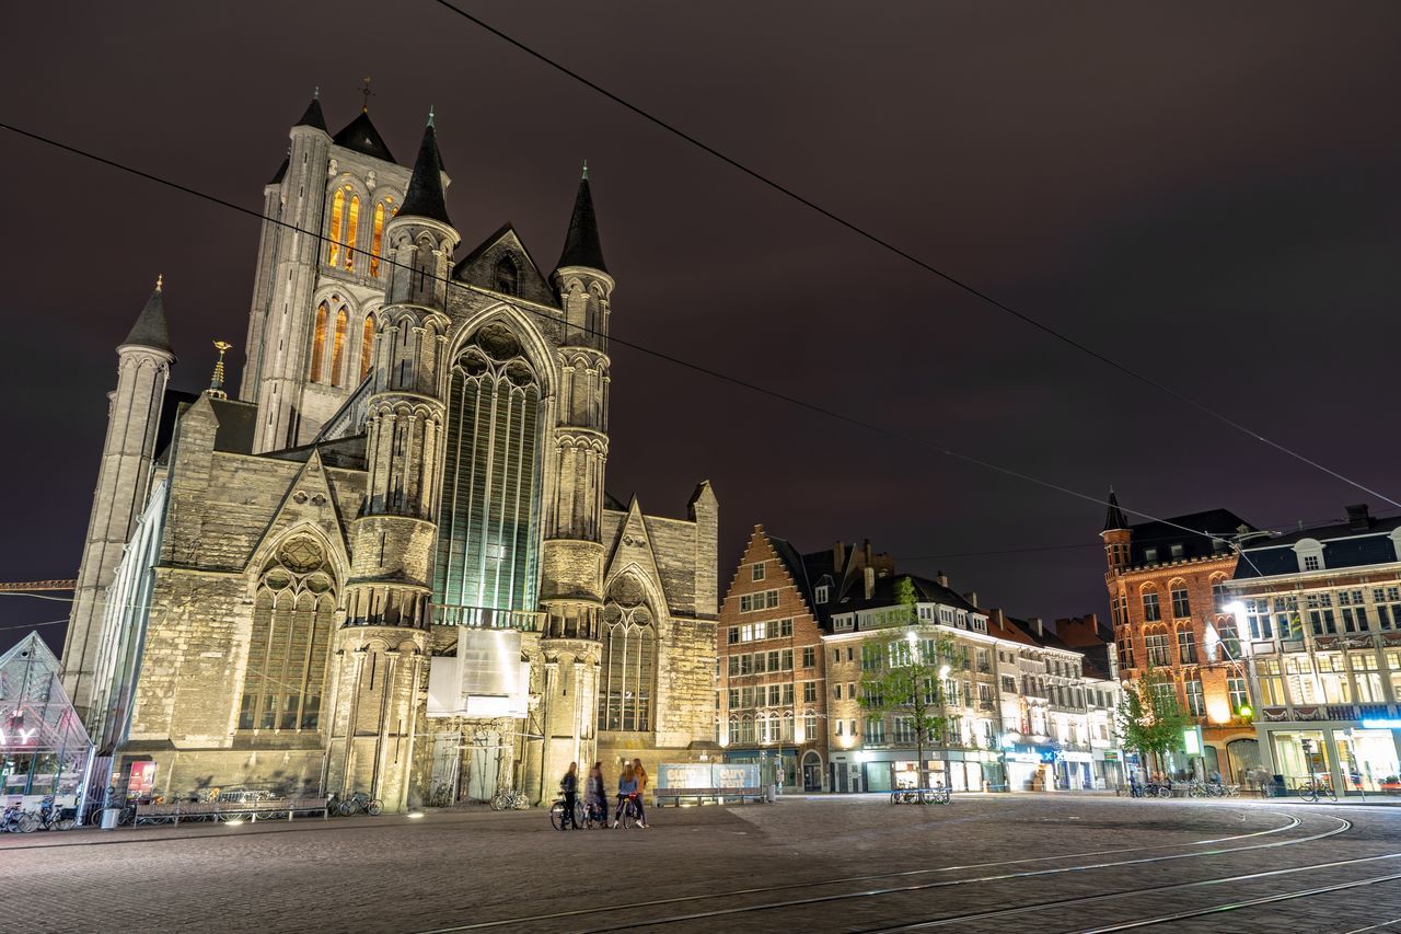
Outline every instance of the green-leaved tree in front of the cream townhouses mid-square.
{"label": "green-leaved tree in front of the cream townhouses mid-square", "polygon": [[954,641],[943,632],[920,638],[913,581],[902,578],[895,599],[899,606],[887,624],[897,631],[862,647],[860,704],[877,717],[895,714],[909,722],[919,756],[919,785],[926,788],[925,743],[941,736],[948,724],[943,680],[954,658]]}

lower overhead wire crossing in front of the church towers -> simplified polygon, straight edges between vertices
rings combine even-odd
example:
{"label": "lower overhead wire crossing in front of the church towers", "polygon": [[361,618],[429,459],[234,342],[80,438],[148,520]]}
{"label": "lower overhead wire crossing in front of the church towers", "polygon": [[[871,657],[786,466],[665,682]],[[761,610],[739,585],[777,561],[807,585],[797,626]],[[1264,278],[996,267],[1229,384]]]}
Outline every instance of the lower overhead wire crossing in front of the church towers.
{"label": "lower overhead wire crossing in front of the church towers", "polygon": [[[198,188],[192,188],[192,187],[185,185],[182,182],[172,181],[172,180],[165,178],[163,175],[156,175],[154,172],[149,172],[149,171],[144,171],[144,170],[140,170],[140,168],[134,168],[134,167],[127,165],[125,163],[119,163],[116,160],[106,158],[105,156],[98,156],[97,153],[92,153],[90,150],[85,150],[85,149],[81,149],[81,147],[77,147],[77,146],[70,146],[67,143],[59,142],[56,139],[52,139],[49,136],[43,136],[42,133],[35,133],[32,130],[27,130],[27,129],[22,129],[20,126],[15,126],[13,123],[6,123],[6,122],[0,122],[0,129],[8,130],[8,132],[11,132],[11,133],[14,133],[17,136],[24,136],[24,137],[35,140],[38,143],[43,143],[45,146],[52,146],[55,149],[63,150],[66,153],[70,153],[73,156],[78,156],[78,157],[87,158],[90,161],[99,163],[102,165],[106,165],[108,168],[115,168],[115,170],[126,172],[129,175],[134,175],[137,178],[143,178],[146,181],[154,182],[157,185],[163,185],[165,188],[171,188],[174,191],[184,192],[186,195],[191,195],[193,198],[199,198],[200,201],[209,202],[212,205],[219,205],[221,208],[228,208],[230,210],[235,210],[235,212],[238,212],[241,215],[247,215],[249,217],[256,217],[258,220],[262,220],[265,223],[272,223],[272,224],[276,224],[279,227],[284,227],[284,229],[287,229],[287,230],[290,230],[293,233],[298,233],[298,234],[304,234],[307,237],[312,237],[317,241],[317,244],[318,244],[318,255],[319,255],[319,247],[322,244],[332,243],[331,237],[326,237],[319,230],[305,230],[303,227],[298,227],[298,226],[296,226],[293,223],[289,223],[286,220],[282,220],[279,217],[268,217],[268,216],[265,216],[259,210],[254,210],[252,208],[245,208],[244,205],[238,205],[235,202],[231,202],[227,198],[220,198],[219,195],[210,195],[209,192],[200,191]],[[336,241],[336,243],[339,243],[339,241]],[[422,269],[413,269],[412,266],[409,266],[406,264],[402,264],[402,262],[398,262],[396,259],[392,259],[389,257],[381,257],[380,262],[382,262],[382,264],[385,264],[388,266],[403,269],[403,271],[415,273],[415,275],[423,272]],[[446,276],[443,276],[443,282],[444,282],[444,287],[447,287],[447,289],[454,289],[454,287],[455,289],[464,289],[467,292],[474,292],[476,295],[486,295],[486,296],[492,296],[492,297],[496,297],[496,295],[497,295],[497,293],[489,292],[486,289],[482,289],[479,286],[474,286],[474,285],[467,283],[467,282],[454,282],[453,278],[451,278],[451,272],[448,272]],[[551,323],[553,323],[556,320],[549,311],[542,311],[542,310],[530,307],[531,304],[534,304],[534,303],[530,303],[530,302],[517,302],[514,304],[514,307],[517,307],[521,311],[525,311],[528,314],[534,314],[535,317],[539,317],[539,318],[544,318],[546,321],[551,321]],[[832,419],[836,419],[839,422],[845,422],[848,425],[853,425],[856,428],[863,428],[863,429],[866,429],[866,431],[869,431],[871,433],[881,435],[884,438],[899,440],[899,442],[904,442],[906,445],[913,445],[916,447],[923,447],[923,449],[932,450],[932,452],[934,452],[937,454],[943,454],[943,456],[951,457],[954,460],[961,460],[964,463],[974,464],[976,467],[982,467],[982,468],[991,470],[993,473],[999,473],[999,474],[1002,474],[1005,477],[1013,477],[1016,480],[1021,480],[1024,482],[1034,484],[1037,487],[1044,487],[1047,489],[1054,489],[1054,491],[1065,494],[1068,496],[1075,496],[1076,499],[1083,499],[1084,502],[1093,502],[1097,506],[1105,506],[1107,508],[1110,505],[1108,501],[1101,499],[1098,496],[1093,496],[1090,494],[1083,494],[1083,492],[1080,492],[1077,489],[1070,489],[1069,487],[1062,487],[1061,484],[1052,482],[1049,480],[1042,480],[1042,478],[1035,477],[1033,474],[1027,474],[1027,473],[1023,473],[1020,470],[1014,470],[1012,467],[1003,467],[1002,464],[996,464],[996,463],[993,463],[991,460],[984,460],[981,457],[975,457],[974,454],[965,454],[962,452],[957,452],[957,450],[953,450],[950,447],[944,447],[941,445],[936,445],[934,442],[930,442],[930,440],[926,440],[926,439],[915,438],[912,435],[905,435],[905,433],[897,432],[894,429],[884,428],[881,425],[876,425],[873,422],[863,421],[863,419],[856,418],[853,415],[846,415],[843,412],[838,412],[836,410],[827,408],[825,405],[821,405],[818,402],[810,402],[807,400],[799,398],[797,395],[790,395],[787,393],[783,393],[783,391],[776,390],[776,388],[771,388],[771,387],[764,386],[761,383],[754,383],[754,381],[741,379],[738,376],[731,376],[729,373],[722,373],[720,370],[709,367],[709,366],[706,366],[703,363],[696,363],[696,362],[692,362],[692,360],[686,360],[686,359],[675,356],[672,353],[667,353],[665,351],[656,351],[656,349],[651,349],[651,348],[644,346],[642,344],[636,344],[633,341],[625,341],[622,338],[604,334],[602,331],[600,331],[597,328],[580,327],[580,328],[576,328],[576,330],[579,330],[579,331],[581,331],[584,334],[591,334],[591,335],[595,335],[595,337],[601,337],[601,338],[607,339],[609,344],[616,344],[619,346],[626,346],[626,348],[637,351],[639,353],[643,353],[646,356],[651,356],[654,359],[664,360],[667,363],[672,363],[675,366],[692,370],[695,373],[700,373],[703,376],[709,376],[712,379],[722,380],[724,383],[733,383],[734,386],[740,386],[740,387],[747,388],[750,391],[759,393],[762,395],[768,395],[769,398],[776,398],[776,400],[779,400],[782,402],[787,402],[789,405],[794,405],[797,408],[803,408],[803,410],[807,410],[810,412],[817,412],[818,415],[825,415],[827,418],[832,418]],[[1377,494],[1377,495],[1380,495],[1380,494]],[[1387,499],[1387,502],[1391,502],[1391,501]],[[1401,503],[1394,503],[1394,505],[1397,505],[1398,508],[1401,508]],[[1154,516],[1154,515],[1147,513],[1147,512],[1142,512],[1139,509],[1131,509],[1128,506],[1121,506],[1121,509],[1124,512],[1126,512],[1126,513],[1132,513],[1135,516],[1140,516],[1140,517],[1149,519],[1152,522],[1160,522],[1160,523],[1163,523],[1166,526],[1171,526],[1174,529],[1181,529],[1182,532],[1188,532],[1188,533],[1192,533],[1192,534],[1208,533],[1208,530],[1203,530],[1203,529],[1188,529],[1187,526],[1178,524],[1178,523],[1171,522],[1168,519],[1161,519],[1159,516]]]}

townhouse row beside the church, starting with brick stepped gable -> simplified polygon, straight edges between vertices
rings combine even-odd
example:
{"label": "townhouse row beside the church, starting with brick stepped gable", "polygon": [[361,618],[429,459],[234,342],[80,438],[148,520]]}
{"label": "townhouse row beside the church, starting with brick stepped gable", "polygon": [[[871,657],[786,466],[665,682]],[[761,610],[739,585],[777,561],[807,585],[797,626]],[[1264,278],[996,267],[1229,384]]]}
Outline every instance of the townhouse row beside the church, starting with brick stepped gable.
{"label": "townhouse row beside the church, starting with brick stepped gable", "polygon": [[[897,597],[913,585],[916,621]],[[800,554],[757,526],[720,607],[716,740],[790,791],[887,791],[919,781],[912,718],[874,714],[863,677],[909,637],[953,652],[930,783],[955,791],[1093,788],[1121,781],[1115,651],[1090,614],[1044,625],[978,606],[947,578],[895,572],[869,543]]]}

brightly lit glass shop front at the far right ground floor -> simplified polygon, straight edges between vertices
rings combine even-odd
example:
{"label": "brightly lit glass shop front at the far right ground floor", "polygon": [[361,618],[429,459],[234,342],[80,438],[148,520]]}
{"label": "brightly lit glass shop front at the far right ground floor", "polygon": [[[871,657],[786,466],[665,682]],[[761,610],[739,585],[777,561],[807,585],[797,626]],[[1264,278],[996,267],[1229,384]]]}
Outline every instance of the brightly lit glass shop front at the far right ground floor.
{"label": "brightly lit glass shop front at the far right ground floor", "polygon": [[1401,794],[1401,721],[1259,726],[1267,771],[1286,790],[1328,783],[1339,795]]}

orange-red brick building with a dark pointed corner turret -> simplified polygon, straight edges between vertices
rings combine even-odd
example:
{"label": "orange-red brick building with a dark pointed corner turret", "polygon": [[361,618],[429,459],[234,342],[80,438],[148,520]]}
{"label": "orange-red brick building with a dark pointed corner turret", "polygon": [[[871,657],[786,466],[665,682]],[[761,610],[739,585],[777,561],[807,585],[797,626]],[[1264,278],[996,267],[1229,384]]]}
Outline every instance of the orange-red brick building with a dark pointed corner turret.
{"label": "orange-red brick building with a dark pointed corner turret", "polygon": [[[1111,489],[1100,533],[1121,675],[1166,675],[1180,710],[1202,728],[1206,771],[1231,783],[1258,766],[1254,728],[1241,714],[1248,694],[1236,618],[1220,599],[1236,572],[1230,540],[1248,532],[1226,509],[1131,526]],[[1163,766],[1187,767],[1181,757]]]}

